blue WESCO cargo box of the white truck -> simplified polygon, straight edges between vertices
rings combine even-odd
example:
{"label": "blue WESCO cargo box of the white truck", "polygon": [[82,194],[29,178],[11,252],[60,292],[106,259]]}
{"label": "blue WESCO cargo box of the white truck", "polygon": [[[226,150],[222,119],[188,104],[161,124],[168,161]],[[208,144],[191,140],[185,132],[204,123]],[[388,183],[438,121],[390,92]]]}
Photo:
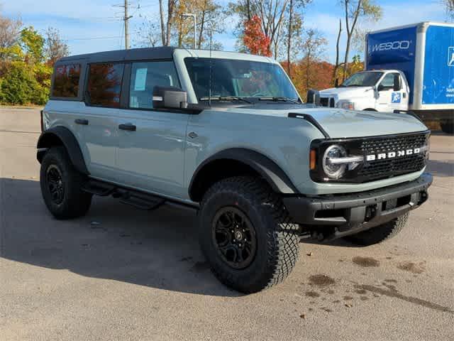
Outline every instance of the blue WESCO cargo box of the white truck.
{"label": "blue WESCO cargo box of the white truck", "polygon": [[[423,22],[366,35],[366,70],[401,70],[409,107],[424,120],[453,125],[454,24]],[[445,129],[443,129],[445,130]]]}

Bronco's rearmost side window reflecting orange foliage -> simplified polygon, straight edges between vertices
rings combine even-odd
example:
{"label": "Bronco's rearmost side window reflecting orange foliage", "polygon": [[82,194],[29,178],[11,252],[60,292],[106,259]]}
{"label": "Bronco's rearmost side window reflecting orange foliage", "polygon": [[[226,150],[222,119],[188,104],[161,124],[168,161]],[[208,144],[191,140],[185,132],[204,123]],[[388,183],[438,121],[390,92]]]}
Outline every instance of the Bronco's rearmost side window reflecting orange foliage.
{"label": "Bronco's rearmost side window reflecting orange foliage", "polygon": [[55,67],[53,97],[77,97],[80,64],[62,64]]}

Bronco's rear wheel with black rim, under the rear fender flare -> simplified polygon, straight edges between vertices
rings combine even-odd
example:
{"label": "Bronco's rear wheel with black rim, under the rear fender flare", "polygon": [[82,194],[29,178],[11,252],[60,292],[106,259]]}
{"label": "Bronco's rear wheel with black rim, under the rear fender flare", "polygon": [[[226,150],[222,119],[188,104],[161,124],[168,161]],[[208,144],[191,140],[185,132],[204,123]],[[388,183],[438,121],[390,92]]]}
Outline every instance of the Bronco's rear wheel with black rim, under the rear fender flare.
{"label": "Bronco's rear wheel with black rim, under the rear fender flare", "polygon": [[82,191],[84,180],[64,147],[52,147],[45,153],[40,169],[41,194],[54,217],[69,219],[87,213],[92,195]]}

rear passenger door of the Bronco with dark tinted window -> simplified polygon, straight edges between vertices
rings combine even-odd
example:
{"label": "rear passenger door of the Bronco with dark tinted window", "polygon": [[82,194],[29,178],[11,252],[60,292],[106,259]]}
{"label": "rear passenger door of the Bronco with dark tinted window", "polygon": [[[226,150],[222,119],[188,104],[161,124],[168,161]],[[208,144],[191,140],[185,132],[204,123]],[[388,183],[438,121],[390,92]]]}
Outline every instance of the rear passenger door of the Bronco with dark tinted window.
{"label": "rear passenger door of the Bronco with dark tinted window", "polygon": [[116,181],[118,110],[124,65],[90,64],[85,93],[83,130],[87,167],[95,178]]}

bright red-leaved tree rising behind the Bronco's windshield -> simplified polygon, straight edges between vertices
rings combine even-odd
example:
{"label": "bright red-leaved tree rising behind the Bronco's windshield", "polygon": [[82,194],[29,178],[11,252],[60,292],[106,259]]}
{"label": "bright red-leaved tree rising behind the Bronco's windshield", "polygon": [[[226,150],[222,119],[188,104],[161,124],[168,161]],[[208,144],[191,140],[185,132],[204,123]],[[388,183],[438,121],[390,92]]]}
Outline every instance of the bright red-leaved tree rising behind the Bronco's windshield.
{"label": "bright red-leaved tree rising behind the Bronco's windshield", "polygon": [[262,31],[262,19],[253,16],[244,23],[243,44],[249,53],[271,56],[271,39]]}

